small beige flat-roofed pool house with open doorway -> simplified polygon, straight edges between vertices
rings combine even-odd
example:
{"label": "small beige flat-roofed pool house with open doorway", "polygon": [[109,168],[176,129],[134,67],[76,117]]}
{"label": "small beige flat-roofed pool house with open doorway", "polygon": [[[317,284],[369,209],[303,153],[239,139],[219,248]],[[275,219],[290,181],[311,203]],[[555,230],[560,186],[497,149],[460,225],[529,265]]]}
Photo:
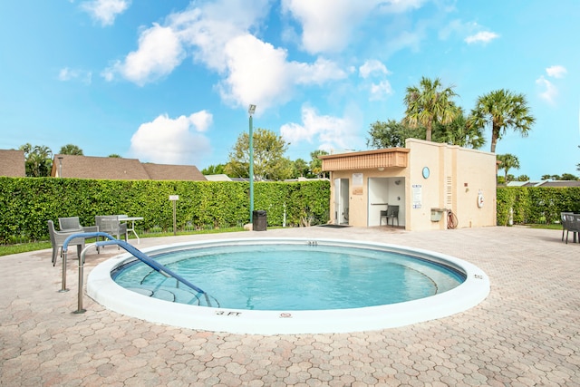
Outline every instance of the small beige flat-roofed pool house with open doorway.
{"label": "small beige flat-roofed pool house with open doorway", "polygon": [[[330,172],[335,225],[407,230],[496,225],[495,153],[407,139],[405,148],[321,159]],[[449,224],[449,210],[455,225]]]}

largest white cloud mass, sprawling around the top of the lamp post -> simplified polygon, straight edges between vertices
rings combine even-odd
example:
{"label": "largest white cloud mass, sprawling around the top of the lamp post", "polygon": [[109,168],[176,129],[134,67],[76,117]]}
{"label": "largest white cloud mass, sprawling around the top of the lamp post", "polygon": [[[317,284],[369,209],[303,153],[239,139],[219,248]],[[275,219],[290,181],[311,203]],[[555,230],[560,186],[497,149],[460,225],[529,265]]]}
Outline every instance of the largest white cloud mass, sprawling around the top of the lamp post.
{"label": "largest white cloud mass, sprawling around the top of the lamp post", "polygon": [[187,55],[223,77],[218,90],[234,106],[254,103],[259,111],[287,102],[296,85],[321,84],[347,74],[336,63],[289,62],[287,52],[265,43],[249,30],[267,14],[267,0],[220,0],[169,15],[140,35],[139,48],[102,72],[143,85],[171,73]]}

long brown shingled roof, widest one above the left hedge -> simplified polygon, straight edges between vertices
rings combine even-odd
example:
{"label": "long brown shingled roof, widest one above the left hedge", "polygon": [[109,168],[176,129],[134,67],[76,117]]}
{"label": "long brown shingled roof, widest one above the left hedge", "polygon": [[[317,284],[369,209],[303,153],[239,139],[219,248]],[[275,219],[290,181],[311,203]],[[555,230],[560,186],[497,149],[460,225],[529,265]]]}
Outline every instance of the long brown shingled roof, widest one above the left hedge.
{"label": "long brown shingled roof, widest one above the left hedge", "polygon": [[141,163],[137,159],[58,154],[53,177],[111,180],[205,180],[193,165]]}

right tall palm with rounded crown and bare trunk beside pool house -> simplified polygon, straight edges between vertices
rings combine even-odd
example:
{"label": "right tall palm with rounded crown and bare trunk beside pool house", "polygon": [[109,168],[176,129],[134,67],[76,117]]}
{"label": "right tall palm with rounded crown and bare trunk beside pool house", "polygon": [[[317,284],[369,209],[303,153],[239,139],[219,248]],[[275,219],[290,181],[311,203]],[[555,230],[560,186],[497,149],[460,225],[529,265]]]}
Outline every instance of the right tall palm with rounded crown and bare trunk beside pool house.
{"label": "right tall palm with rounded crown and bare trunk beside pool house", "polygon": [[468,124],[484,128],[491,124],[491,152],[496,152],[496,144],[508,128],[527,136],[536,119],[530,114],[524,94],[515,94],[501,89],[478,98],[471,111]]}

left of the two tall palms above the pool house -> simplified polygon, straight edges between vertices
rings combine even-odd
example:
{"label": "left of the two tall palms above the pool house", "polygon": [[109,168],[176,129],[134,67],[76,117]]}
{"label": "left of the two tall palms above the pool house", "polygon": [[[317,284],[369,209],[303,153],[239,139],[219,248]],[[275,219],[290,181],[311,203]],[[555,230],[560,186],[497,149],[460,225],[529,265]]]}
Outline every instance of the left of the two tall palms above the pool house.
{"label": "left of the two tall palms above the pool house", "polygon": [[407,105],[403,123],[411,128],[425,127],[425,139],[430,141],[433,123],[448,124],[455,119],[457,108],[451,99],[456,95],[453,86],[443,88],[439,78],[432,81],[422,77],[419,86],[407,88],[403,100]]}

